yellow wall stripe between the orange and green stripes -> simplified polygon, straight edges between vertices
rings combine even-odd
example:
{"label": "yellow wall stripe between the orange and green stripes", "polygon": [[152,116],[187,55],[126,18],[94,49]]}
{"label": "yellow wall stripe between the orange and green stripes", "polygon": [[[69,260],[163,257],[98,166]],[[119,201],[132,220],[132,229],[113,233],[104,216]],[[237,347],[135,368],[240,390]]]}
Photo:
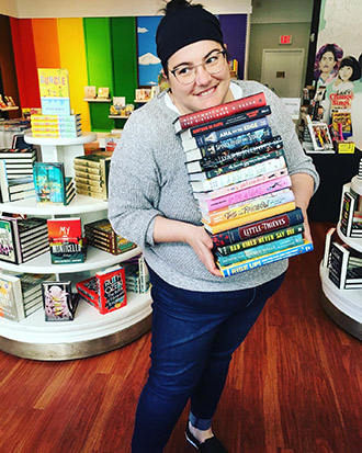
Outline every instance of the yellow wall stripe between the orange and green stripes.
{"label": "yellow wall stripe between the orange and green stripes", "polygon": [[70,106],[75,113],[81,113],[82,131],[91,131],[89,106],[83,101],[88,86],[83,21],[57,19],[57,26],[60,66],[69,71]]}

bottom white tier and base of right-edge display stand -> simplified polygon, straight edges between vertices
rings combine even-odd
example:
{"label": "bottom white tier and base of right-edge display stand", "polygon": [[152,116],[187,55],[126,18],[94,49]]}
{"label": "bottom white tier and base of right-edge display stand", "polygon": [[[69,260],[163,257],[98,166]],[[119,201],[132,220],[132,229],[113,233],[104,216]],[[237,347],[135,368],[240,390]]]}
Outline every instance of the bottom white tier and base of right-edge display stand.
{"label": "bottom white tier and base of right-edge display stand", "polygon": [[321,263],[319,274],[324,309],[338,326],[362,340],[362,290],[339,290]]}

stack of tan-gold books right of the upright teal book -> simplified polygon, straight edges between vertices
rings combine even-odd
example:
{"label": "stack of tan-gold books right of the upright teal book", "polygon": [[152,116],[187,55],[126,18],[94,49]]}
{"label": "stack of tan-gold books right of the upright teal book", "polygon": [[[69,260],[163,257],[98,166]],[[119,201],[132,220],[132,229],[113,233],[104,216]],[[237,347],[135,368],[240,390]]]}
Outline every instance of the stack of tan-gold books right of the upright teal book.
{"label": "stack of tan-gold books right of the upright teal book", "polygon": [[112,152],[101,151],[73,159],[77,193],[108,200],[108,182]]}

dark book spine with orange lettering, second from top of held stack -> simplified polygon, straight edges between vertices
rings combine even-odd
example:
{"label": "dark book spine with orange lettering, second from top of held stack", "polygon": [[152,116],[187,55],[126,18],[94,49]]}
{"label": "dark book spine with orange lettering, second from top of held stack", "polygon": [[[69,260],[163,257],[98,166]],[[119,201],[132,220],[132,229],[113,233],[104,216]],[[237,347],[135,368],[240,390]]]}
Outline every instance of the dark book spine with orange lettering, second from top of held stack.
{"label": "dark book spine with orange lettering, second from top of held stack", "polygon": [[210,123],[203,124],[201,126],[191,127],[190,129],[186,129],[186,131],[182,132],[181,136],[185,132],[190,132],[190,134],[186,134],[185,136],[197,137],[199,135],[204,135],[207,132],[218,131],[218,129],[222,129],[224,127],[231,126],[234,124],[246,123],[246,122],[251,121],[251,120],[257,120],[257,118],[267,116],[270,113],[271,113],[270,106],[264,105],[262,107],[258,107],[258,109],[249,110],[249,111],[246,111],[246,112],[237,113],[236,115],[225,116],[224,118],[219,118],[217,121],[210,122]]}

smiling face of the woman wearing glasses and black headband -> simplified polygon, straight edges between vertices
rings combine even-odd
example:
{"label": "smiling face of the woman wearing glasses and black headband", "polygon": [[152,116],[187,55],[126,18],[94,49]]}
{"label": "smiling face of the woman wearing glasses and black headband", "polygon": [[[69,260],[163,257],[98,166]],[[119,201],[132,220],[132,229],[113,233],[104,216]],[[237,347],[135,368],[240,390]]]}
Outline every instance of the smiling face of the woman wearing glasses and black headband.
{"label": "smiling face of the woman wearing glasses and black headband", "polygon": [[[211,75],[202,66],[210,56],[220,50],[224,49],[219,43],[205,39],[182,47],[169,58],[170,95],[181,114],[197,112],[234,99],[229,89],[230,72],[226,57],[223,57],[222,69],[217,73]],[[196,67],[196,77],[188,84],[181,83],[171,72],[177,68],[190,67]]]}

